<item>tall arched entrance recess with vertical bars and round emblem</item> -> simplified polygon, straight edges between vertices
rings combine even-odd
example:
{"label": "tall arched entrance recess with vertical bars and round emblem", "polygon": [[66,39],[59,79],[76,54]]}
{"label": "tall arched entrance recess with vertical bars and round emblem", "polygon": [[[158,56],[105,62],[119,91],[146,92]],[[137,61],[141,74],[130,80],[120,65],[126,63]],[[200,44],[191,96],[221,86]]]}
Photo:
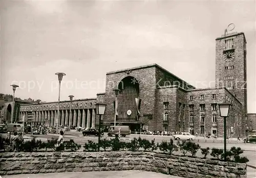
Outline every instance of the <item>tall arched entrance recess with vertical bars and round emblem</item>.
{"label": "tall arched entrance recess with vertical bars and round emblem", "polygon": [[117,98],[117,122],[122,123],[122,125],[130,125],[130,129],[134,131],[140,125],[137,121],[138,109],[135,99],[139,97],[139,83],[134,77],[125,77],[119,83],[118,89],[120,90],[120,94]]}

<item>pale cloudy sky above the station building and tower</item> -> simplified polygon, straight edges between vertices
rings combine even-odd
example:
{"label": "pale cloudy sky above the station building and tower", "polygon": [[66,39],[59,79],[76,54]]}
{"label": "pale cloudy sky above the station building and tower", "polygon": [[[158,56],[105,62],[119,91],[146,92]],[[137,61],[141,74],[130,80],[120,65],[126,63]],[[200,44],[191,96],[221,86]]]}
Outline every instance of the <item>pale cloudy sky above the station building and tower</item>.
{"label": "pale cloudy sky above the station building and tower", "polygon": [[0,93],[12,94],[16,84],[16,97],[56,101],[55,73],[64,72],[60,100],[94,98],[105,91],[106,72],[153,63],[197,88],[214,87],[215,39],[234,23],[247,40],[248,113],[256,113],[255,7],[255,1],[0,0]]}

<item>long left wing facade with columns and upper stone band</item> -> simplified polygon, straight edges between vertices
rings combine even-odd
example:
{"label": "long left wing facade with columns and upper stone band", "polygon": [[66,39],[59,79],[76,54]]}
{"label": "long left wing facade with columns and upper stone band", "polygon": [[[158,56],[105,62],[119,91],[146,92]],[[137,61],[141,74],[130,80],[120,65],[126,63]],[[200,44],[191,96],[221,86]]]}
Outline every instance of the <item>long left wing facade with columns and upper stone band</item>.
{"label": "long left wing facade with columns and upper stone band", "polygon": [[[99,95],[101,96],[101,95]],[[98,100],[102,100],[98,98]],[[75,99],[60,101],[59,125],[81,126],[82,128],[95,128],[97,98]],[[56,126],[58,102],[26,104],[20,106],[19,121],[25,118],[25,122]],[[31,114],[29,117],[28,114]]]}

